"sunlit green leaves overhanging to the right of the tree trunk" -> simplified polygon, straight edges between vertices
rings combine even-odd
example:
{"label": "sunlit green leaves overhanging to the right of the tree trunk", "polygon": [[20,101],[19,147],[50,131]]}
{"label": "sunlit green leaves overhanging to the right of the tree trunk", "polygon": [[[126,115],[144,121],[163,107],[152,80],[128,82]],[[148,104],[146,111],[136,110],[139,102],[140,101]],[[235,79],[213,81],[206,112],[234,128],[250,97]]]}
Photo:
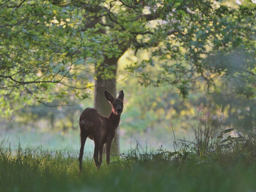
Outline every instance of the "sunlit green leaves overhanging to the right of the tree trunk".
{"label": "sunlit green leaves overhanging to the right of the tree trunk", "polygon": [[184,96],[197,82],[216,91],[215,79],[224,76],[249,77],[254,87],[255,4],[232,3],[163,1],[149,8],[157,19],[135,41],[135,48],[150,48],[149,58],[127,70],[137,71],[143,85],[173,84]]}

